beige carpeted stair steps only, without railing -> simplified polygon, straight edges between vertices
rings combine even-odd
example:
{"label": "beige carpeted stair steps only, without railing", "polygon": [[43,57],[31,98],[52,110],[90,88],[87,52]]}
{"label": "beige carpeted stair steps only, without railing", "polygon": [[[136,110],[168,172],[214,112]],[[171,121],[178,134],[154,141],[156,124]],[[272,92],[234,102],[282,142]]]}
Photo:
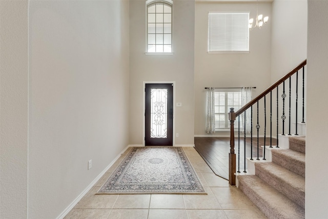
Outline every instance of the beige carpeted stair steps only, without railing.
{"label": "beige carpeted stair steps only, without railing", "polygon": [[305,218],[305,137],[289,149],[272,149],[272,162],[255,163],[255,175],[238,175],[238,188],[268,218]]}

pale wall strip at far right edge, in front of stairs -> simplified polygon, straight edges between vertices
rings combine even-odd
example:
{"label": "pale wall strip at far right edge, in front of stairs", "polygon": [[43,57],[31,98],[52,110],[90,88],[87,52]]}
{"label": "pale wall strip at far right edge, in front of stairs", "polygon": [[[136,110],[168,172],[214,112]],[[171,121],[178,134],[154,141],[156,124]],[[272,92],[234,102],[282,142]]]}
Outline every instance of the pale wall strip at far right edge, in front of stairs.
{"label": "pale wall strip at far right edge, in front of stairs", "polygon": [[[327,98],[328,2],[308,1],[308,111],[306,121],[305,216],[328,218]],[[322,98],[324,97],[324,98]]]}

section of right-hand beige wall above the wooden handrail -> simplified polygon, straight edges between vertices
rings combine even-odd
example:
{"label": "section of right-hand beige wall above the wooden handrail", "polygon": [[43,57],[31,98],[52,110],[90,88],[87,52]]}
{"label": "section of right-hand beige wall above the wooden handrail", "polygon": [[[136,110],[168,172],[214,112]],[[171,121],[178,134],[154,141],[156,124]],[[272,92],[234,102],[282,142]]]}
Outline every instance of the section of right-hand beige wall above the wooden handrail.
{"label": "section of right-hand beige wall above the wooden handrail", "polygon": [[271,84],[306,59],[306,0],[272,3]]}

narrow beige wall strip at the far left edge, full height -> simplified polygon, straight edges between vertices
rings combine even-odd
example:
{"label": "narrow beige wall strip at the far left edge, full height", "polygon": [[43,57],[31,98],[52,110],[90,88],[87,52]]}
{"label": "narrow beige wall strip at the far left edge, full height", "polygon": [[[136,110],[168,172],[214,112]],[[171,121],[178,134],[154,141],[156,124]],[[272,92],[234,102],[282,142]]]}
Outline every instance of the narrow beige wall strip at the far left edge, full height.
{"label": "narrow beige wall strip at the far left edge, full height", "polygon": [[27,217],[28,2],[0,1],[0,218]]}

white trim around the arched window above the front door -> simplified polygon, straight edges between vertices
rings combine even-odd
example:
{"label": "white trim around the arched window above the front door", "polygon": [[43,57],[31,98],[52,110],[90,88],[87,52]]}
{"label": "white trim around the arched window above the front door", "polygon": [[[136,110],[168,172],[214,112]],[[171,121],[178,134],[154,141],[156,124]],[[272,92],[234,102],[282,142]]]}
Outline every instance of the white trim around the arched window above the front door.
{"label": "white trim around the arched window above the front door", "polygon": [[[164,3],[171,6],[171,52],[148,52],[148,6],[156,3]],[[171,0],[148,0],[146,1],[146,52],[145,55],[173,55],[173,1]]]}

